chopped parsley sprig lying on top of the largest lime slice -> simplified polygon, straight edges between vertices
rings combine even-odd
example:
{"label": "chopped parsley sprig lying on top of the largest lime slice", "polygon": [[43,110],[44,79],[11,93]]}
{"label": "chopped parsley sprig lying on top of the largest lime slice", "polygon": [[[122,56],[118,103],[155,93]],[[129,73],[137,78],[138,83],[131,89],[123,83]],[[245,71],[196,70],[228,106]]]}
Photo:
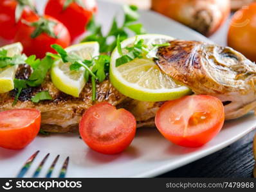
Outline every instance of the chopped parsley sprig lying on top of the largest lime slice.
{"label": "chopped parsley sprig lying on top of the largest lime slice", "polygon": [[128,51],[126,54],[123,54],[123,49],[121,45],[120,38],[118,36],[117,39],[117,49],[118,53],[120,54],[120,58],[116,60],[116,67],[123,65],[125,63],[128,63],[130,61],[135,60],[136,58],[158,58],[156,56],[156,52],[158,51],[159,47],[166,47],[169,46],[169,43],[165,44],[152,44],[152,46],[145,45],[144,40],[140,39],[138,40],[138,37],[136,38],[133,46],[124,47],[126,51]]}

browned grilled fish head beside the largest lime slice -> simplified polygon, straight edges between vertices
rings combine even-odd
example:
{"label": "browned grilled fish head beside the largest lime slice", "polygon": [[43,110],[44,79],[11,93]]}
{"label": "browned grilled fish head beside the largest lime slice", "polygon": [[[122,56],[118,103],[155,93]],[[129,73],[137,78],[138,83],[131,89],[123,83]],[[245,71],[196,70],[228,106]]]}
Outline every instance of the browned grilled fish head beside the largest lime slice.
{"label": "browned grilled fish head beside the largest lime slice", "polygon": [[256,65],[232,48],[174,40],[157,56],[158,67],[175,81],[221,99],[226,119],[256,108]]}

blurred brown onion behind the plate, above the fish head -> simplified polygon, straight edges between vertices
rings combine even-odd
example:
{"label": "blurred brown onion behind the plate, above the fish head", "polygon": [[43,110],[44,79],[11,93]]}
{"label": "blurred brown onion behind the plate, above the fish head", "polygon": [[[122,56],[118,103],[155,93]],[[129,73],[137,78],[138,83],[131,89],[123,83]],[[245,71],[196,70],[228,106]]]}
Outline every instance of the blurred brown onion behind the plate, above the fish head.
{"label": "blurred brown onion behind the plate, above the fish head", "polygon": [[152,10],[210,36],[230,15],[230,0],[152,0]]}

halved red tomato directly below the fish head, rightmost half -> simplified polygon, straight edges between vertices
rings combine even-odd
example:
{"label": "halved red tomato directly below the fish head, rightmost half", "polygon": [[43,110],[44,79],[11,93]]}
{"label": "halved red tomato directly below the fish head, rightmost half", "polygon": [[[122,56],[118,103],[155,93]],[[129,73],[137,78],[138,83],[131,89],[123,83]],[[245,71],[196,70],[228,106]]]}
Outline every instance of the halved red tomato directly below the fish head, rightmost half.
{"label": "halved red tomato directly below the fish head, rightmost half", "polygon": [[186,96],[163,104],[155,122],[161,134],[172,143],[200,147],[221,131],[224,107],[216,97]]}

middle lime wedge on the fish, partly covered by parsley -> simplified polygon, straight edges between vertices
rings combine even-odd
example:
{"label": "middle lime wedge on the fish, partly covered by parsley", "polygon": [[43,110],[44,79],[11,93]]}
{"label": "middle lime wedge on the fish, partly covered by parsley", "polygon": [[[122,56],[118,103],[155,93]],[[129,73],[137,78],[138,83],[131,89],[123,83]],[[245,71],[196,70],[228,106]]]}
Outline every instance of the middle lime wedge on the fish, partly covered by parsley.
{"label": "middle lime wedge on the fish, partly covered by parsley", "polygon": [[[77,54],[84,60],[91,60],[92,57],[98,56],[99,50],[98,42],[85,42],[66,48],[68,53]],[[56,61],[51,69],[51,81],[60,91],[79,97],[86,84],[85,69],[81,67],[78,71],[70,71],[70,65],[71,63],[63,63],[61,60]]]}

